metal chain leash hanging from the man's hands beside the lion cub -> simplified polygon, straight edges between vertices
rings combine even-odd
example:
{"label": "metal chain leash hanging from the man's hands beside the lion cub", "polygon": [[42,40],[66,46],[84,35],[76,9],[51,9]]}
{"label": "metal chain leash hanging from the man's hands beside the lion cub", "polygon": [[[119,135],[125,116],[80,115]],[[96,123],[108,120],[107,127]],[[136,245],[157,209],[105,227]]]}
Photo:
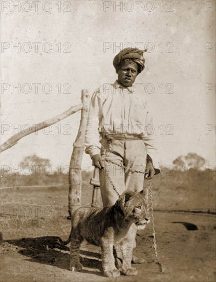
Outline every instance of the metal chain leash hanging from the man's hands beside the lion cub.
{"label": "metal chain leash hanging from the man's hands beside the lion cub", "polygon": [[[107,162],[107,161],[106,161],[106,162]],[[109,161],[109,162],[110,162],[110,161]],[[129,170],[129,171],[131,171],[131,172],[137,172],[137,173],[142,173],[142,174],[146,174],[146,173],[147,173],[147,172],[145,172],[145,171],[136,170],[136,169],[133,169],[133,168],[126,167],[126,166],[124,166],[124,165],[120,165],[120,164],[118,165],[118,164],[115,164],[115,163],[113,163],[113,162],[110,162],[110,163],[112,163],[112,164],[114,164],[114,165],[117,165],[117,166],[119,166],[119,167],[121,167],[121,168],[127,169],[127,170]],[[107,178],[109,179],[109,181],[110,181],[110,183],[111,183],[111,185],[112,185],[114,191],[117,193],[118,197],[120,197],[120,195],[119,195],[119,193],[118,193],[118,191],[117,191],[117,189],[116,189],[114,183],[112,182],[110,176],[108,175],[108,173],[107,173],[107,171],[106,171],[105,169],[104,169],[104,172],[105,172]],[[152,182],[151,182],[151,180],[149,180],[149,192],[150,192],[150,208],[151,208],[152,227],[153,227],[153,246],[152,246],[152,247],[153,247],[153,249],[154,249],[154,251],[155,251],[155,257],[156,257],[155,263],[158,265],[159,271],[160,271],[160,272],[163,272],[163,266],[162,266],[162,264],[160,263],[159,258],[158,258],[158,251],[157,251],[157,244],[156,244],[154,209],[153,209],[153,192],[152,192]]]}

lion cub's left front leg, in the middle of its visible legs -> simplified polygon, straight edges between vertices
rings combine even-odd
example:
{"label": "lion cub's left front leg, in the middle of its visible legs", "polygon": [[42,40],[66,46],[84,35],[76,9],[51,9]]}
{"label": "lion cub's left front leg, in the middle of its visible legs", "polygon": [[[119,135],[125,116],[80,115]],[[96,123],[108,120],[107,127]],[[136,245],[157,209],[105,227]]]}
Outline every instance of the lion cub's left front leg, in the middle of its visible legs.
{"label": "lion cub's left front leg, in the middle of its visible legs", "polygon": [[120,271],[115,267],[115,258],[113,255],[113,244],[107,239],[103,239],[101,243],[102,267],[106,277],[116,277],[120,275]]}

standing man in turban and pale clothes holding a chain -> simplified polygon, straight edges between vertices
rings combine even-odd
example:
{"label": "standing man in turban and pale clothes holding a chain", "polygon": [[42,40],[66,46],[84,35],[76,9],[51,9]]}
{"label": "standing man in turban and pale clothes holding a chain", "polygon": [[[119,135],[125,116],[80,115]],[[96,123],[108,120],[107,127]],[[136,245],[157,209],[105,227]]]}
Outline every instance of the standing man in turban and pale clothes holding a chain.
{"label": "standing man in turban and pale clothes holding a chain", "polygon": [[[114,205],[118,198],[110,179],[119,194],[126,189],[135,192],[143,189],[144,174],[131,172],[128,168],[146,171],[146,179],[160,172],[152,112],[141,87],[134,84],[144,69],[145,51],[137,48],[120,51],[113,61],[118,79],[114,84],[104,84],[92,96],[85,152],[100,169],[104,206]],[[143,262],[134,257],[133,260]]]}

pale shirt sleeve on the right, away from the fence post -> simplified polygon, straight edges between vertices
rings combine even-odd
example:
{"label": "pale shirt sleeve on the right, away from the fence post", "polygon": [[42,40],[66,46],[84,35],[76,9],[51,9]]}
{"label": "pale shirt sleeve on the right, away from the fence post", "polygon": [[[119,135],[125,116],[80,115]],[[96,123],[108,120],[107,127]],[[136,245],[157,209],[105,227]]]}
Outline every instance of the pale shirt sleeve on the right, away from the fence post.
{"label": "pale shirt sleeve on the right, away from the fence post", "polygon": [[156,127],[154,125],[153,107],[147,100],[147,113],[145,118],[145,137],[144,143],[147,154],[152,158],[154,168],[160,169],[157,142],[156,142]]}

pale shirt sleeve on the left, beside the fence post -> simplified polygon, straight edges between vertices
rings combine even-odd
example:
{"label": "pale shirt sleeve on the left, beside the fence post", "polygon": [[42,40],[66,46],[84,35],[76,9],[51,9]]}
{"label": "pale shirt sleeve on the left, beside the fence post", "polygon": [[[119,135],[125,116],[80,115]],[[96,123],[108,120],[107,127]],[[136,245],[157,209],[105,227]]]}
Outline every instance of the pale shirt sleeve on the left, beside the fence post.
{"label": "pale shirt sleeve on the left, beside the fence post", "polygon": [[87,129],[85,131],[85,153],[89,154],[91,158],[96,154],[100,154],[99,123],[102,118],[101,108],[102,96],[100,89],[97,89],[91,98]]}

